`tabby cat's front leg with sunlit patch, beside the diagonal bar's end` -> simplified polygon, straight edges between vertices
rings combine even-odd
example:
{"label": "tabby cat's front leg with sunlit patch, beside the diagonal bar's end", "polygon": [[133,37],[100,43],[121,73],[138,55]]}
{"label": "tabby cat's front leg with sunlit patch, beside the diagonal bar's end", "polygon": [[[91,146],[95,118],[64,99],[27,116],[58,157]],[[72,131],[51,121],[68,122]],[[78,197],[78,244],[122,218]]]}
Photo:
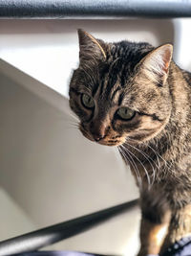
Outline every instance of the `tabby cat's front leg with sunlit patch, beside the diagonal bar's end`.
{"label": "tabby cat's front leg with sunlit patch, beside the diagonal bar's end", "polygon": [[168,234],[171,210],[157,190],[141,192],[140,249],[138,256],[159,254]]}

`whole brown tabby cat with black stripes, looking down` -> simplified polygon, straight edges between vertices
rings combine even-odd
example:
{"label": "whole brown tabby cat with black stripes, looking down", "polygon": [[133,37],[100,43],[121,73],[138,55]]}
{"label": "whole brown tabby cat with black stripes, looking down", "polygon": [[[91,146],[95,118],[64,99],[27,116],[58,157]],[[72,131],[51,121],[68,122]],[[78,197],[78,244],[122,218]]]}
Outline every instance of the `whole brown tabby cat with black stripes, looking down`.
{"label": "whole brown tabby cat with black stripes, looking down", "polygon": [[78,30],[70,106],[91,141],[117,147],[140,193],[138,256],[191,234],[191,74],[173,46],[107,43]]}

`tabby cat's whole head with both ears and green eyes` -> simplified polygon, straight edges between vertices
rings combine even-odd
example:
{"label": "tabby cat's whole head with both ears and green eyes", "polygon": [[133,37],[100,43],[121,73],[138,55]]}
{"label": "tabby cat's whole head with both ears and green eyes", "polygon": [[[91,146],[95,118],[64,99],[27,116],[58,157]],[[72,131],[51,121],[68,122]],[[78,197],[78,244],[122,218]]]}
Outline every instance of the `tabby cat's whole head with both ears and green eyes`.
{"label": "tabby cat's whole head with both ears and green eyes", "polygon": [[168,123],[172,45],[106,43],[82,30],[79,66],[70,83],[70,105],[85,137],[118,146],[145,142]]}

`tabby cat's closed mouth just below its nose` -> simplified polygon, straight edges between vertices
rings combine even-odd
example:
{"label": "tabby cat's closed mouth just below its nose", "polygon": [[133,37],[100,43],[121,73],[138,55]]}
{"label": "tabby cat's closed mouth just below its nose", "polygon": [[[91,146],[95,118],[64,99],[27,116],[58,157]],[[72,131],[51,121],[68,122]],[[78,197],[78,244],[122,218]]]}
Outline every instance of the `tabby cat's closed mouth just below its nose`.
{"label": "tabby cat's closed mouth just below its nose", "polygon": [[105,136],[102,139],[96,140],[94,136],[89,133],[86,129],[84,129],[82,126],[79,127],[82,134],[89,140],[96,142],[100,145],[104,146],[120,146],[123,143],[125,143],[126,139],[120,136],[112,137],[112,136]]}

